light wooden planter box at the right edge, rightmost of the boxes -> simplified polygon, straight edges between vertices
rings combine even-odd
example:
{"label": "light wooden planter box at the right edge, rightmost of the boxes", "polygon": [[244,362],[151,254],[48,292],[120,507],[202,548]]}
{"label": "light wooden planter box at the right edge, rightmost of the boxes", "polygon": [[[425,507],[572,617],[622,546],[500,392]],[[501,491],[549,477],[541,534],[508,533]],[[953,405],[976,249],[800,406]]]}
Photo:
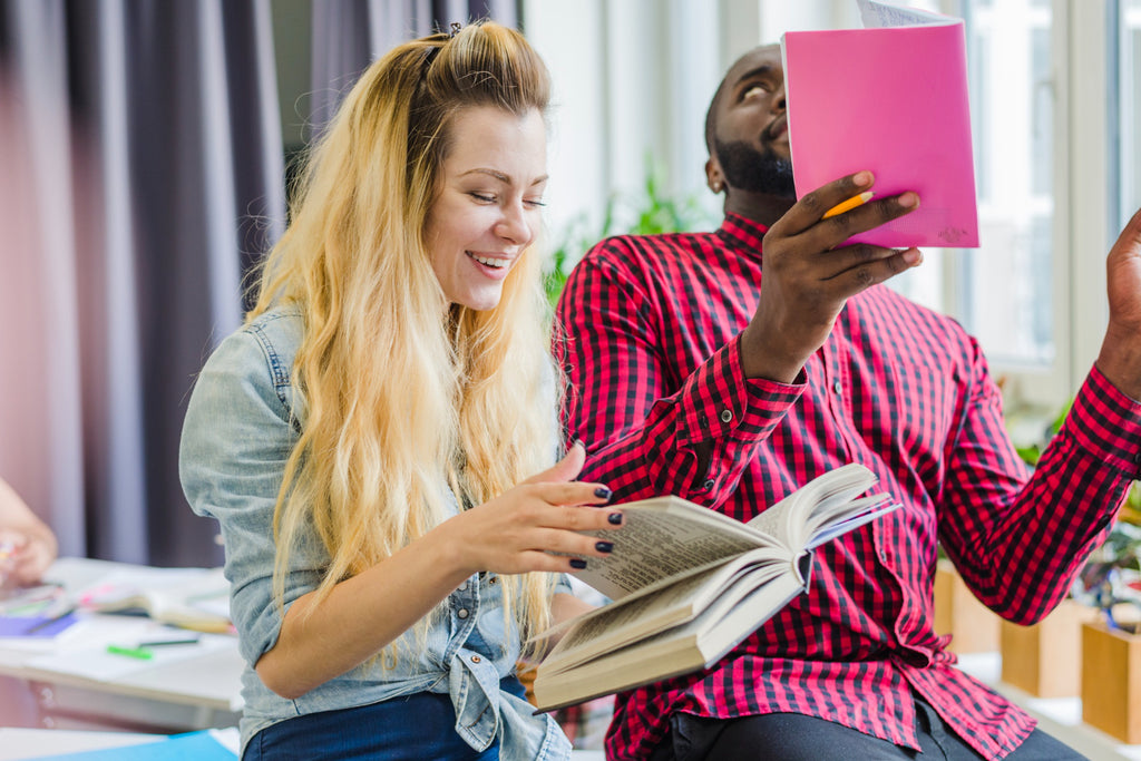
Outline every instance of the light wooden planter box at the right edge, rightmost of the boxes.
{"label": "light wooden planter box at the right edge, rightmost of the boxes", "polygon": [[1141,635],[1082,624],[1082,720],[1127,745],[1141,743]]}

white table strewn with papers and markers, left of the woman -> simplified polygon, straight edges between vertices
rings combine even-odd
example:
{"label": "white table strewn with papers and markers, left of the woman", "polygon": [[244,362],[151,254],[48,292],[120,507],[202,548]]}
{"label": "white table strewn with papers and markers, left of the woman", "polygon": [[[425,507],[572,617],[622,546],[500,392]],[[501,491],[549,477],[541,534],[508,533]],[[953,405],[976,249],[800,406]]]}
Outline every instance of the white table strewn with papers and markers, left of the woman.
{"label": "white table strewn with papers and markers, left of the woman", "polygon": [[[132,566],[62,558],[44,578],[75,590],[126,568]],[[236,637],[203,635],[201,645],[179,646],[179,653],[156,653],[153,662],[124,658],[120,672],[100,674],[92,673],[91,663],[76,663],[72,669],[67,658],[87,658],[89,653],[89,659],[98,658],[106,643],[147,639],[160,630],[159,625],[143,617],[118,615],[91,616],[79,625],[84,629],[47,654],[50,664],[44,663],[43,651],[0,646],[0,675],[26,686],[38,707],[39,726],[169,734],[237,723],[244,663]]]}

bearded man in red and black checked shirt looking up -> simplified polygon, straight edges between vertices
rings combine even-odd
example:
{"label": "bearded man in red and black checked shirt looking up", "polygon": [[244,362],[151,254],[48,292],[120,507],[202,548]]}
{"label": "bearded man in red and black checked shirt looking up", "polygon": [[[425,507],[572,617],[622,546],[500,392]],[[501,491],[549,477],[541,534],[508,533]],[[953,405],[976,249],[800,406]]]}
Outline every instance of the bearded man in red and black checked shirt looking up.
{"label": "bearded man in red and black checked shirt looking up", "polygon": [[746,54],[706,119],[721,228],[604,241],[572,274],[558,316],[581,477],[747,520],[855,461],[904,507],[820,548],[808,593],[712,669],[620,696],[608,755],[1082,758],[952,666],[936,545],[1028,624],[1103,537],[1141,463],[1141,214],[1109,254],[1097,365],[1031,477],[976,341],[882,285],[920,252],[843,244],[922,199],[823,219],[874,186],[857,172],[795,202],[785,107],[779,48]]}

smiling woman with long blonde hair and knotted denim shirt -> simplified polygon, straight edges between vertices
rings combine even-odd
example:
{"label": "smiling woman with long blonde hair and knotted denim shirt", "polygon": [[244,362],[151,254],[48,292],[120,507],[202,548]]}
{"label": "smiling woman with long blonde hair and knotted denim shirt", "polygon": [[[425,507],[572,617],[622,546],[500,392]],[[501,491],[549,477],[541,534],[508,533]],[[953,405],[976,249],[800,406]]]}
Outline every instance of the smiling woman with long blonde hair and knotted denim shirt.
{"label": "smiling woman with long blonde hair and knotted denim shirt", "polygon": [[243,759],[563,759],[515,675],[610,550],[609,489],[555,462],[540,261],[547,70],[469,25],[364,72],[181,445],[226,544]]}

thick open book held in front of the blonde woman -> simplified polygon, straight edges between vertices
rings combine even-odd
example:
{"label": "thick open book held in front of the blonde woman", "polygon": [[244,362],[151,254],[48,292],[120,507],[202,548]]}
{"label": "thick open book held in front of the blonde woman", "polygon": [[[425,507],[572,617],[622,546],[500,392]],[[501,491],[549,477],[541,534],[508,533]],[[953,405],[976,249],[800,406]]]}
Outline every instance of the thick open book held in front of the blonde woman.
{"label": "thick open book held in front of the blonde woman", "polygon": [[899,507],[859,496],[875,480],[859,464],[836,468],[747,524],[677,496],[620,505],[622,529],[605,532],[613,554],[577,574],[614,602],[544,632],[564,633],[536,670],[537,709],[720,661],[807,589],[814,548]]}

